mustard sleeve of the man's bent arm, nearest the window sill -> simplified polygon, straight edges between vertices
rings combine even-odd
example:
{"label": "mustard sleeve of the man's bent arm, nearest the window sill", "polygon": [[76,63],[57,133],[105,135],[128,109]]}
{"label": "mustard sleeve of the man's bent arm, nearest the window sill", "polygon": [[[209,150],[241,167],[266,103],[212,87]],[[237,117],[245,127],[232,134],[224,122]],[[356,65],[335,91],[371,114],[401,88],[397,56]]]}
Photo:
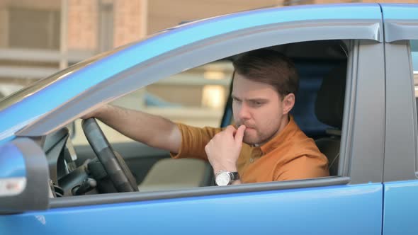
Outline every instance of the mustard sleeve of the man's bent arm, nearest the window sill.
{"label": "mustard sleeve of the man's bent arm, nearest the window sill", "polygon": [[276,168],[275,180],[303,180],[329,176],[325,156],[302,155]]}

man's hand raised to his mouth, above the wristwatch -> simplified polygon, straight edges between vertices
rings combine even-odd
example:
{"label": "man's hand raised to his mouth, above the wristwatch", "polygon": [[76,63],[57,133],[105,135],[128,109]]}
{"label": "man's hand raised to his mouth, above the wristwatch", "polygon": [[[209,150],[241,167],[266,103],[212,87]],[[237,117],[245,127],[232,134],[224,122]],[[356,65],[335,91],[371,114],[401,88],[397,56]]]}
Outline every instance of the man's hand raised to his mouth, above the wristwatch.
{"label": "man's hand raised to his mouth, above the wristwatch", "polygon": [[[205,151],[213,171],[237,171],[237,160],[242,148],[245,126],[235,129],[232,125],[210,139]],[[239,181],[239,180],[238,180]],[[239,183],[239,182],[236,182]]]}

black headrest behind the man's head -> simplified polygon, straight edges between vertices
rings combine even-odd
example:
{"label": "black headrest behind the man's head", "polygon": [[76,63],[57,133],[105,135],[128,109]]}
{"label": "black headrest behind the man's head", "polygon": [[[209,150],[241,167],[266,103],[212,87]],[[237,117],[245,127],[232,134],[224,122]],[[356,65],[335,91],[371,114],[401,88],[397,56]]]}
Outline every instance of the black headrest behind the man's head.
{"label": "black headrest behind the man's head", "polygon": [[324,124],[341,130],[346,91],[346,62],[339,64],[322,79],[315,102],[315,115]]}

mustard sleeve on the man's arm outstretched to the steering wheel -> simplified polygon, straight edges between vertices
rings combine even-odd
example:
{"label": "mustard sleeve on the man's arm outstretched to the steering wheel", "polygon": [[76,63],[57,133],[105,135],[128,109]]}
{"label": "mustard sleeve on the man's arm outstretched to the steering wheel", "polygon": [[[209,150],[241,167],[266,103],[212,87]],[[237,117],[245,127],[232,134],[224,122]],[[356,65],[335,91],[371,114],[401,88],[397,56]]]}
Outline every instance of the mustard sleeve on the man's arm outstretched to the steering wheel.
{"label": "mustard sleeve on the man's arm outstretched to the steering wheel", "polygon": [[193,158],[208,161],[205,153],[205,146],[215,134],[221,131],[220,128],[213,127],[191,127],[177,124],[181,132],[181,147],[179,153],[170,153],[174,159]]}

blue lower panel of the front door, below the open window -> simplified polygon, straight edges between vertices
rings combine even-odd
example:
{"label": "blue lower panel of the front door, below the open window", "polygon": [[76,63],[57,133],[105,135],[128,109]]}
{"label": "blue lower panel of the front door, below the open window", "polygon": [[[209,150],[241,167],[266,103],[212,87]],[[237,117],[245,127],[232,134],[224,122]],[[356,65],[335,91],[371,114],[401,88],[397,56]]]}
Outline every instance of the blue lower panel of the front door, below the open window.
{"label": "blue lower panel of the front door, below the open window", "polygon": [[[382,185],[232,193],[55,208],[0,219],[13,234],[380,234]],[[21,224],[26,224],[21,227]],[[62,231],[64,224],[74,224]],[[9,235],[7,232],[4,235]]]}

